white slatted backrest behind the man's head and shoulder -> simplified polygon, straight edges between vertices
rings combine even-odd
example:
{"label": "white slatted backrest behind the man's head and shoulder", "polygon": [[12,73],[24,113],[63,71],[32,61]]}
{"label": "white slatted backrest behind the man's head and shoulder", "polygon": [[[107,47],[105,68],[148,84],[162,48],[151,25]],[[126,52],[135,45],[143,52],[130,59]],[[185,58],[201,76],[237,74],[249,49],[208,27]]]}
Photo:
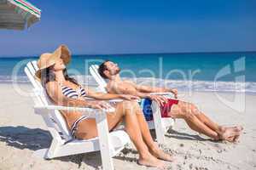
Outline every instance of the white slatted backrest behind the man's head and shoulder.
{"label": "white slatted backrest behind the man's head and shoulder", "polygon": [[89,71],[90,74],[96,79],[96,82],[99,84],[100,90],[102,92],[107,92],[106,87],[107,87],[107,82],[101,77],[101,75],[98,72],[99,65],[90,65]]}

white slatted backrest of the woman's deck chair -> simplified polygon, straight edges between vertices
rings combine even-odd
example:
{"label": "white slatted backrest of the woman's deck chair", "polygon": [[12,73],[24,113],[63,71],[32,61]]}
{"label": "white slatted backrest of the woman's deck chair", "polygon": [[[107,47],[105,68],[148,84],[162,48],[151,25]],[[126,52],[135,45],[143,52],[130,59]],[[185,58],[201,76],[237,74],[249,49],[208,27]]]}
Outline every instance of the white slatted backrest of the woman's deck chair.
{"label": "white slatted backrest of the woman's deck chair", "polygon": [[[46,94],[41,82],[35,78],[36,71],[38,71],[36,60],[29,62],[25,67],[26,76],[29,78],[30,82],[32,82],[34,87],[34,94],[36,96],[35,103],[38,105],[52,105],[52,102]],[[52,111],[49,119],[54,124],[55,130],[57,130],[61,135],[61,139],[66,141],[72,139],[71,133],[67,127],[67,122],[61,115],[60,111]]]}

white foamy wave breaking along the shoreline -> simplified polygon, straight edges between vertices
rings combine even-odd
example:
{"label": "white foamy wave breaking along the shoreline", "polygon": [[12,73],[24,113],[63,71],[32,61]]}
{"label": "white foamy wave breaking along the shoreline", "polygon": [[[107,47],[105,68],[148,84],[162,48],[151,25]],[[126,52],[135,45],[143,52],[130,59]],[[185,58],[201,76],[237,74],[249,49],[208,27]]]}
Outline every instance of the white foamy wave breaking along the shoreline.
{"label": "white foamy wave breaking along the shoreline", "polygon": [[[96,81],[91,76],[79,75],[75,78],[84,85],[97,86]],[[126,80],[132,80],[141,85],[152,85],[166,88],[177,88],[182,91],[219,91],[219,92],[245,92],[256,94],[256,82],[211,82],[211,81],[183,81],[183,80],[163,80],[152,77],[138,77],[131,79],[125,77]],[[28,83],[25,76],[13,79],[10,76],[0,76],[0,82],[18,82]]]}

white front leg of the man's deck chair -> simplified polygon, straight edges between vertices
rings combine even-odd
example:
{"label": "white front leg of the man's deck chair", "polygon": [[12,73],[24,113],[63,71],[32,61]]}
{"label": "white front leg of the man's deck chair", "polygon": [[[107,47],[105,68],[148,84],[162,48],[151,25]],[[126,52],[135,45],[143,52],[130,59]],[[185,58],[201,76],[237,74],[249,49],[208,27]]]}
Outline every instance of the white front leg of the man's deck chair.
{"label": "white front leg of the man's deck chair", "polygon": [[165,129],[162,124],[160,106],[155,101],[152,102],[152,110],[157,142],[158,144],[165,144]]}

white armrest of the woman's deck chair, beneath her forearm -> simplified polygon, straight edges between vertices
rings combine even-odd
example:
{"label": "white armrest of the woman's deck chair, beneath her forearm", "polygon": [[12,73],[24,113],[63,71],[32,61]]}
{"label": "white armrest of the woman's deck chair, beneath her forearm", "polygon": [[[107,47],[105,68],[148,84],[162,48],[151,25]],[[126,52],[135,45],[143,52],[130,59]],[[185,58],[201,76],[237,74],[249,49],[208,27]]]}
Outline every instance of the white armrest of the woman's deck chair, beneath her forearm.
{"label": "white armrest of the woman's deck chair, beneath her forearm", "polygon": [[[100,110],[100,109],[92,109],[86,107],[69,107],[69,106],[62,106],[62,105],[35,105],[34,110],[36,113],[49,113],[49,110],[59,110],[59,111],[80,111],[85,116],[89,117],[96,117],[98,114],[106,113],[106,112],[113,112],[114,108],[110,108],[109,110]],[[45,111],[47,110],[47,111]]]}

